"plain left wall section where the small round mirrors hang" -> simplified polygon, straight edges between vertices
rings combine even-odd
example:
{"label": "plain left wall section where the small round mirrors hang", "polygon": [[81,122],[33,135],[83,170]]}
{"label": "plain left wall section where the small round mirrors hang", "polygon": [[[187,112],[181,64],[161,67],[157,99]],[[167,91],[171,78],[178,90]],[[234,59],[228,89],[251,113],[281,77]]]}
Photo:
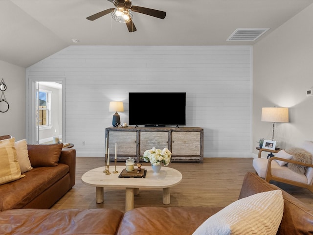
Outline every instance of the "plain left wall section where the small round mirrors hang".
{"label": "plain left wall section where the small round mirrors hang", "polygon": [[9,110],[0,113],[0,136],[25,139],[25,68],[0,61],[0,80],[2,78],[7,86],[4,95]]}

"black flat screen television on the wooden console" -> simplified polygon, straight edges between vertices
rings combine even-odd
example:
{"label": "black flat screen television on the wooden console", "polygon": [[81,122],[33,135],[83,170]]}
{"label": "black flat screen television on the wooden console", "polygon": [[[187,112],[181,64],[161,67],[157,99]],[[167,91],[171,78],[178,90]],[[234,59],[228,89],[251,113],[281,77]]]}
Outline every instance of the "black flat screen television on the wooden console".
{"label": "black flat screen television on the wooden console", "polygon": [[129,124],[186,125],[186,93],[129,93]]}

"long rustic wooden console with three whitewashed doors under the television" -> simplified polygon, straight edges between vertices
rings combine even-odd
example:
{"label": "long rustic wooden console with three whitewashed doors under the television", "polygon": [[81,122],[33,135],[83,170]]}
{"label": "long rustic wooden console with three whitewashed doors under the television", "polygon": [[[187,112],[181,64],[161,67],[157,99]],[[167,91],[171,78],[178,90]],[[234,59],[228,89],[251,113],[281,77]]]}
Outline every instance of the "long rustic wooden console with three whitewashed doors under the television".
{"label": "long rustic wooden console with three whitewashed doors under the television", "polygon": [[[139,163],[146,150],[166,147],[172,152],[172,162],[203,163],[201,127],[108,127],[105,137],[110,153],[117,143],[117,161],[132,157]],[[114,150],[110,158],[114,160]]]}

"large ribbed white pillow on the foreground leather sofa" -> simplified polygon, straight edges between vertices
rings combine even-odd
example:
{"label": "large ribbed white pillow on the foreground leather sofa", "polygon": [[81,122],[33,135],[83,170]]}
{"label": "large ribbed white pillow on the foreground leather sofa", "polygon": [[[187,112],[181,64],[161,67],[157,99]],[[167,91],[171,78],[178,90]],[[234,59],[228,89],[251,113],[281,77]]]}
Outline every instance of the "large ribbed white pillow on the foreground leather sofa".
{"label": "large ribbed white pillow on the foreground leather sofa", "polygon": [[281,190],[257,193],[212,215],[193,235],[275,235],[283,212]]}

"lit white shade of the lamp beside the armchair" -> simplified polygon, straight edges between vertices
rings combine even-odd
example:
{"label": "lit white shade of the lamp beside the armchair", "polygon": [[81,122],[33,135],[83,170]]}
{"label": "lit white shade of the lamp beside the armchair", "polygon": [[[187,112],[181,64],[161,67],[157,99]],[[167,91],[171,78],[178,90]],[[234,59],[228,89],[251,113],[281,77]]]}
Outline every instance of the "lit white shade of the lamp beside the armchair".
{"label": "lit white shade of the lamp beside the armchair", "polygon": [[261,121],[289,122],[288,108],[265,107],[261,116]]}

